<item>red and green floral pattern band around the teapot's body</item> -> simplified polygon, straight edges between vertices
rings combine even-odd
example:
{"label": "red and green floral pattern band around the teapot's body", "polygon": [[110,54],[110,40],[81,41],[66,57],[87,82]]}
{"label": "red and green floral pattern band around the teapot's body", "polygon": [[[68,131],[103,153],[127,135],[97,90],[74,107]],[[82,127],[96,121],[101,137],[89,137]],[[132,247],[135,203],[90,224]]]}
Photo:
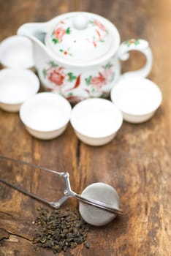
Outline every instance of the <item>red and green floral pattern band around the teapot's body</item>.
{"label": "red and green floral pattern band around the teapot's body", "polygon": [[107,62],[100,71],[93,75],[75,74],[59,67],[54,61],[49,61],[42,69],[42,77],[47,91],[56,91],[72,104],[89,97],[107,97],[110,93],[109,85],[115,80],[114,65]]}

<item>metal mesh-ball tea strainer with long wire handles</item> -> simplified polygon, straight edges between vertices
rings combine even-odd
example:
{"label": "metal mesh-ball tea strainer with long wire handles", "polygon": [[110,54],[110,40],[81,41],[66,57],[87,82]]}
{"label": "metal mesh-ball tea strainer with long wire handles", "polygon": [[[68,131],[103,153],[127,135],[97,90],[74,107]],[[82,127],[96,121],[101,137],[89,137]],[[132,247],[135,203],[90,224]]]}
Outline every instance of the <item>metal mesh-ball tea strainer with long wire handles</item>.
{"label": "metal mesh-ball tea strainer with long wire handles", "polygon": [[23,188],[11,184],[8,181],[5,181],[4,178],[0,178],[0,181],[6,184],[13,189],[17,189],[19,192],[22,192],[25,195],[33,197],[43,203],[47,203],[53,208],[60,208],[61,205],[69,198],[75,197],[79,200],[79,211],[81,217],[91,225],[102,226],[106,225],[112,221],[117,214],[123,214],[123,211],[119,208],[119,197],[118,193],[113,187],[104,183],[94,183],[86,187],[83,190],[81,195],[78,195],[76,192],[72,191],[70,182],[69,182],[69,173],[66,172],[57,172],[56,170],[51,170],[46,167],[34,165],[28,162],[20,161],[18,159],[13,159],[9,157],[2,157],[0,159],[17,162],[18,164],[28,165],[30,167],[39,168],[40,170],[45,170],[50,173],[56,173],[62,178],[64,178],[66,188],[64,189],[64,196],[61,197],[58,201],[49,201],[45,198],[34,195],[31,192],[26,191]]}

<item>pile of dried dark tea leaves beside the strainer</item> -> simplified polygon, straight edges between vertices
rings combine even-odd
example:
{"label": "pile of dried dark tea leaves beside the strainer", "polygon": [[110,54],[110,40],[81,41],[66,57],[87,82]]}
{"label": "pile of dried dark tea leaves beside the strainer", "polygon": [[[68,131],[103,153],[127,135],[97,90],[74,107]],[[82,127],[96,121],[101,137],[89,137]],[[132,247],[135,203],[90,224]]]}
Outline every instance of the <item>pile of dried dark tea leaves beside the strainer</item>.
{"label": "pile of dried dark tea leaves beside the strainer", "polygon": [[33,224],[35,234],[33,244],[35,249],[45,248],[54,253],[65,252],[84,243],[89,248],[86,240],[88,225],[80,217],[78,211],[62,212],[61,210],[48,211],[38,208],[39,216]]}

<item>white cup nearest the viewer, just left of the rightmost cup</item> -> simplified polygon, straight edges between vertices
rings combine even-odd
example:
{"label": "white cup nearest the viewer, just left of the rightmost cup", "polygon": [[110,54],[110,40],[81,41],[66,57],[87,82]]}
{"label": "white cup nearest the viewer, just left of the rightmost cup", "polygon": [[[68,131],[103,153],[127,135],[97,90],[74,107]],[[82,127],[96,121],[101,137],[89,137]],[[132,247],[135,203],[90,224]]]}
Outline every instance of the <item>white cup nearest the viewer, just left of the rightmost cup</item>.
{"label": "white cup nearest the viewer, just left of the rightmost cup", "polygon": [[101,146],[113,140],[123,117],[113,102],[94,98],[77,103],[70,121],[80,140],[91,146]]}

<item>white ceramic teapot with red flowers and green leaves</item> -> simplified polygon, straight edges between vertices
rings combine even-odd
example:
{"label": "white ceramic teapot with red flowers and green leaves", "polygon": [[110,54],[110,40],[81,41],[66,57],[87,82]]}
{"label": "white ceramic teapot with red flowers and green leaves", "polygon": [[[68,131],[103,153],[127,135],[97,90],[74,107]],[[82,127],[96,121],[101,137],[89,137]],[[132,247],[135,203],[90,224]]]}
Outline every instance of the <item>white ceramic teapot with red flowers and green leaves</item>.
{"label": "white ceramic teapot with red flowers and green leaves", "polygon": [[[68,12],[45,23],[26,23],[18,35],[33,42],[34,64],[46,91],[61,94],[72,104],[89,97],[108,97],[120,77],[146,77],[152,53],[144,39],[120,45],[118,29],[106,18],[90,12]],[[145,55],[140,70],[121,75],[120,60],[129,51]]]}

